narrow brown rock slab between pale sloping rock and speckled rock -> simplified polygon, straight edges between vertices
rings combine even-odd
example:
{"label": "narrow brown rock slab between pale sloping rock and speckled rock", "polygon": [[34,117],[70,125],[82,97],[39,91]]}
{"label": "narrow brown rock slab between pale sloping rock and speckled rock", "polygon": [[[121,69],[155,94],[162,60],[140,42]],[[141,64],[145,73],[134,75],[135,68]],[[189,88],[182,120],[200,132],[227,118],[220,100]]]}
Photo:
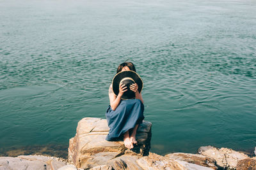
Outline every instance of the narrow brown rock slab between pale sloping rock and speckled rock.
{"label": "narrow brown rock slab between pale sloping rock and speckled rock", "polygon": [[168,159],[182,160],[200,166],[211,167],[212,169],[218,169],[218,167],[216,166],[216,161],[214,159],[200,154],[169,153],[164,157]]}

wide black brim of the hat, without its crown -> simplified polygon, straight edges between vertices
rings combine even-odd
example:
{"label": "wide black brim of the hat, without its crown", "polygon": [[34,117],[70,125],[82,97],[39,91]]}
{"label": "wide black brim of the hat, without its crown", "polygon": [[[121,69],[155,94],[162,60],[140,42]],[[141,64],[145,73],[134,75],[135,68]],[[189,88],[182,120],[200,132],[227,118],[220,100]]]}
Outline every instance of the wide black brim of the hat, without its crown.
{"label": "wide black brim of the hat, without its crown", "polygon": [[[125,77],[132,78],[135,81],[135,83],[137,83],[137,85],[138,85],[138,91],[141,92],[141,90],[143,89],[143,81],[140,78],[139,74],[136,73],[135,71],[122,71],[122,72],[117,73],[112,80],[112,87],[113,87],[113,92],[114,92],[115,96],[118,96],[120,81]],[[121,99],[131,99],[131,97],[125,96],[125,94],[124,94],[121,97]]]}

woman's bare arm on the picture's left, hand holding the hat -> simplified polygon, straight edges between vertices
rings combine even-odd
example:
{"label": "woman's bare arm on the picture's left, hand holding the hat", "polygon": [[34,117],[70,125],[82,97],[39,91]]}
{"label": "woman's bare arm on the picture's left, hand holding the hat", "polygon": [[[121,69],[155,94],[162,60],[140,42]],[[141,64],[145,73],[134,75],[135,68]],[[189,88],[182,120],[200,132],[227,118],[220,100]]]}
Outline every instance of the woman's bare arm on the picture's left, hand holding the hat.
{"label": "woman's bare arm on the picture's left, hand holding the hat", "polygon": [[127,87],[123,85],[122,83],[119,85],[119,94],[118,96],[115,96],[113,89],[112,89],[112,84],[109,87],[108,91],[108,96],[109,96],[109,102],[112,110],[116,110],[117,106],[119,105],[121,101],[121,97],[124,94],[124,92],[127,91]]}

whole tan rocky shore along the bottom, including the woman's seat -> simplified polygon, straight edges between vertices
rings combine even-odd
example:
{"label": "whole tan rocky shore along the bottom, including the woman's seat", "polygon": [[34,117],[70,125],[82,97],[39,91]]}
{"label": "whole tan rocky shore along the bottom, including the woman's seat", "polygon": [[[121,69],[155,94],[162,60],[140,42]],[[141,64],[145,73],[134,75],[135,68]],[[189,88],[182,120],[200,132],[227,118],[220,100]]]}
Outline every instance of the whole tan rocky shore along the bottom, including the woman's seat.
{"label": "whole tan rocky shore along the bottom, including the woman's seat", "polygon": [[[202,146],[196,154],[150,152],[152,124],[143,121],[132,150],[124,142],[106,141],[106,119],[86,117],[78,122],[76,136],[69,141],[68,160],[44,155],[0,157],[2,169],[103,170],[103,169],[255,169],[256,157],[229,148]],[[255,151],[256,152],[256,151]]]}

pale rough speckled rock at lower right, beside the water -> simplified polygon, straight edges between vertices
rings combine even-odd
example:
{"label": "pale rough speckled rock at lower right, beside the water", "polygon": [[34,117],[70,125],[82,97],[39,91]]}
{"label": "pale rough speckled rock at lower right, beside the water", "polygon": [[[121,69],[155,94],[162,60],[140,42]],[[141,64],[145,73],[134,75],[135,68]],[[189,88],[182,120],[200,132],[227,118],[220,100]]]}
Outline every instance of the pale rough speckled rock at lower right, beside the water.
{"label": "pale rough speckled rock at lower right, beside the water", "polygon": [[202,146],[198,149],[198,153],[216,160],[216,164],[224,169],[236,169],[239,160],[248,158],[248,155],[244,153],[228,148],[219,149],[212,146]]}

